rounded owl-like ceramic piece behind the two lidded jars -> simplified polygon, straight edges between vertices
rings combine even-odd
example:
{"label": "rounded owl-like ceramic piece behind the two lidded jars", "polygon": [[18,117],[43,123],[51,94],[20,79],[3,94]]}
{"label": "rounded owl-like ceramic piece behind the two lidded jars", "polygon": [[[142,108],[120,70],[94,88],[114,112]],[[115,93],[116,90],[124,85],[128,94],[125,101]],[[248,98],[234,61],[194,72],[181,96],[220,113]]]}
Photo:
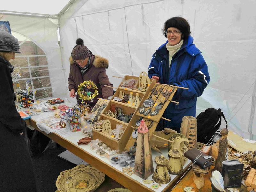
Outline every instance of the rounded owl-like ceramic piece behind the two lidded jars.
{"label": "rounded owl-like ceramic piece behind the two lidded jars", "polygon": [[169,138],[169,140],[172,142],[168,142],[168,151],[174,148],[177,148],[177,150],[181,152],[180,162],[181,162],[181,165],[183,166],[188,160],[186,157],[184,157],[184,153],[188,151],[188,148],[187,148],[187,143],[189,143],[188,139],[184,135],[177,133],[172,135]]}

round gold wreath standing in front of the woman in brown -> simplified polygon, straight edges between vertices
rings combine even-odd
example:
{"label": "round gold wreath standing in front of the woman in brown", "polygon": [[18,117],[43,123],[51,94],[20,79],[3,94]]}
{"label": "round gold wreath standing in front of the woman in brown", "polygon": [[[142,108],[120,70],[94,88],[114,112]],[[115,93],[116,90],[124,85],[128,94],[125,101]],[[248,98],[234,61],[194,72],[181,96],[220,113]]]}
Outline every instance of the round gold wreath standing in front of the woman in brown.
{"label": "round gold wreath standing in front of the woman in brown", "polygon": [[[92,88],[94,90],[94,93],[92,94],[92,92],[86,92],[84,88]],[[84,81],[83,83],[80,83],[80,85],[78,86],[77,94],[79,95],[80,100],[89,101],[96,97],[96,95],[98,95],[98,87],[91,80]]]}

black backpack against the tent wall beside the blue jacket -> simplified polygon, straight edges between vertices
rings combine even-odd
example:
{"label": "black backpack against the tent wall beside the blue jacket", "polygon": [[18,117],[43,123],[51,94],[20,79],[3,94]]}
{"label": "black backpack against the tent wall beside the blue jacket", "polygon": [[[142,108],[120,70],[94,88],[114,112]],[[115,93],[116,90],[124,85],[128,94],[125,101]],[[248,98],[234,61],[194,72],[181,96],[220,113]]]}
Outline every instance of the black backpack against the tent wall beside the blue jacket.
{"label": "black backpack against the tent wall beside the blue jacket", "polygon": [[218,131],[221,125],[221,117],[226,122],[226,129],[228,124],[221,109],[208,108],[201,112],[197,117],[197,141],[201,143],[208,143],[213,139],[213,135]]}

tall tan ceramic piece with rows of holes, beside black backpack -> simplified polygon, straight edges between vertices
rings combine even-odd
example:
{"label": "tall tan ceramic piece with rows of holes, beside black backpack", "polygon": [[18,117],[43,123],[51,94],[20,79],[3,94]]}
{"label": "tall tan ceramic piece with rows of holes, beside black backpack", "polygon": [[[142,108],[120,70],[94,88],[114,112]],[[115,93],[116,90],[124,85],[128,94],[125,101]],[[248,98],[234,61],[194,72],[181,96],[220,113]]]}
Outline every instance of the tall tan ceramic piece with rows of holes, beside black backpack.
{"label": "tall tan ceramic piece with rows of holes, beside black backpack", "polygon": [[188,150],[196,148],[197,140],[197,120],[192,116],[184,116],[182,118],[180,133],[185,135],[188,140]]}

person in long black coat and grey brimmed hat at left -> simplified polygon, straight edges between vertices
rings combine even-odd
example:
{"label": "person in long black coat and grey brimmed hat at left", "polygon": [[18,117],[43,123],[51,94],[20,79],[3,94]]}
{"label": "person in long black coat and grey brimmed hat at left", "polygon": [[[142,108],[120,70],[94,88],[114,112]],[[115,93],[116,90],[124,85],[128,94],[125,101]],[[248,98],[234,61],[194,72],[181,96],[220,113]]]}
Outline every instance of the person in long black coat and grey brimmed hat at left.
{"label": "person in long black coat and grey brimmed hat at left", "polygon": [[17,112],[14,101],[10,59],[19,52],[18,40],[0,31],[0,191],[35,192],[36,181],[28,150],[27,125]]}

